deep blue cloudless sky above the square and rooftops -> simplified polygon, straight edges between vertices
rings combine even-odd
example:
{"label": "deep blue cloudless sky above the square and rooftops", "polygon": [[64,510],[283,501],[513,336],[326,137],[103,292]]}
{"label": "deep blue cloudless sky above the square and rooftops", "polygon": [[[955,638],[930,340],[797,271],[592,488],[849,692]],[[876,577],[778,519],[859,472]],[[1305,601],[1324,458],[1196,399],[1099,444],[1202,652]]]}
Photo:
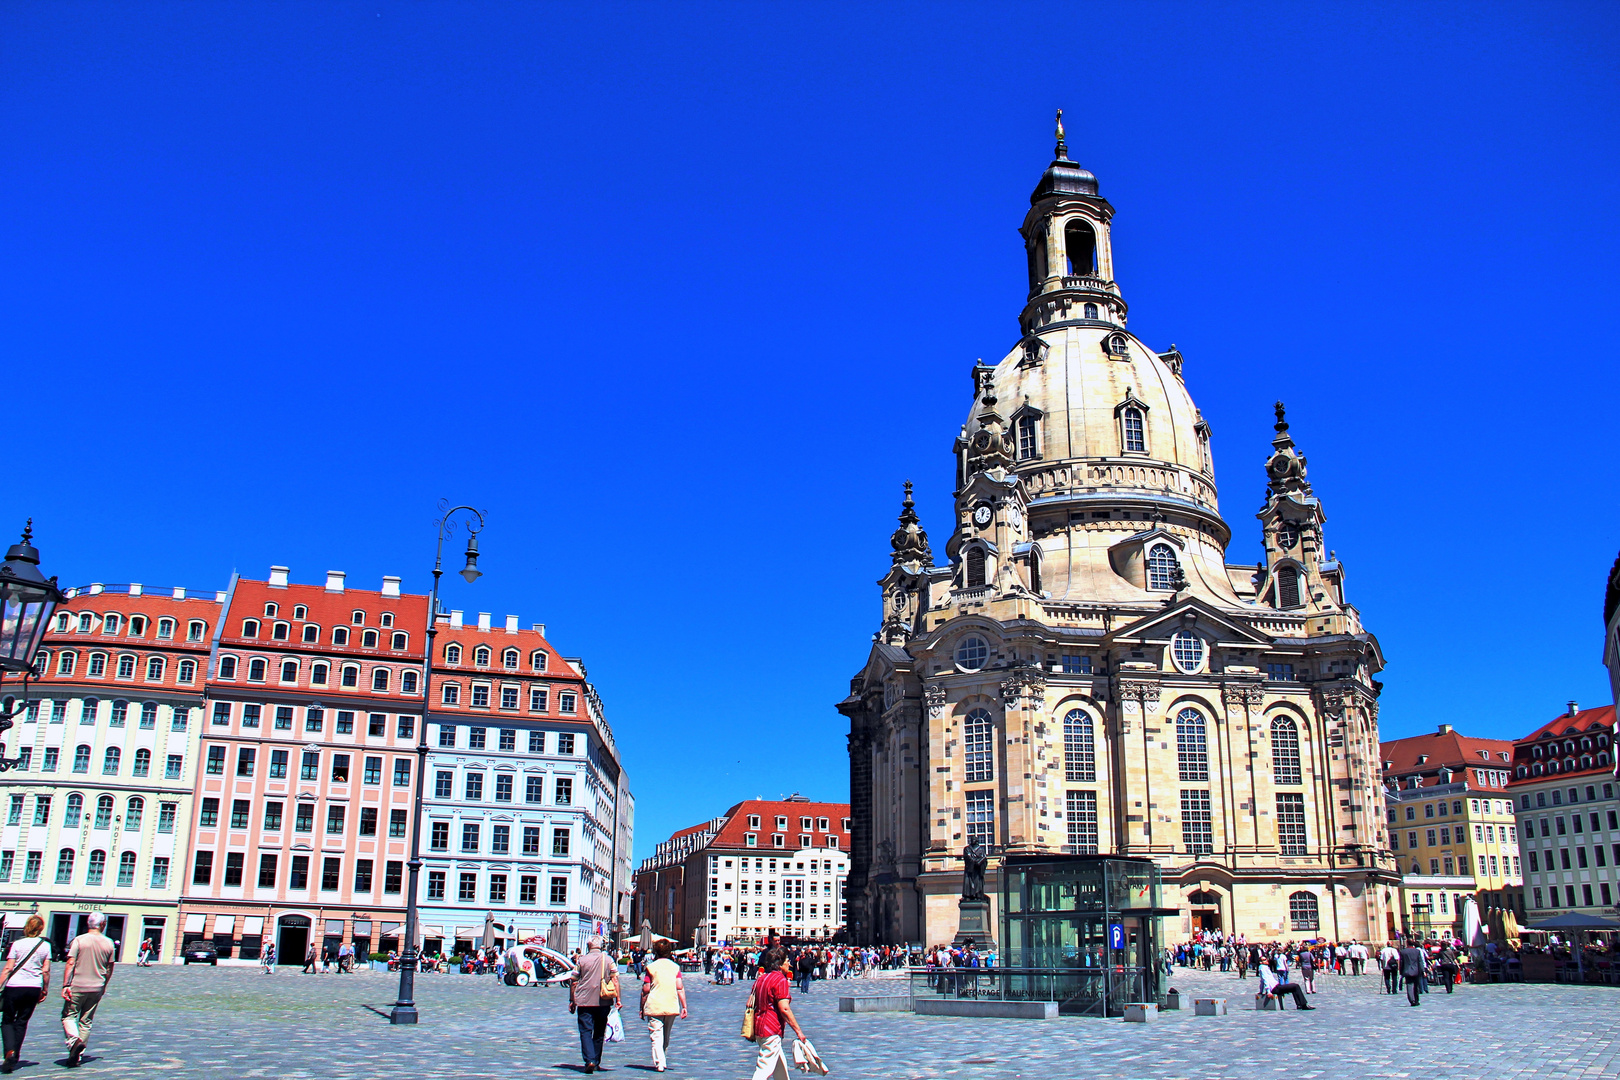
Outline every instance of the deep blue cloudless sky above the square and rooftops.
{"label": "deep blue cloudless sky above the square and rooftops", "polygon": [[844,798],[1061,105],[1231,560],[1281,397],[1385,737],[1513,737],[1607,695],[1617,11],[8,3],[0,517],[65,583],[424,589],[473,502],[447,604],[586,659],[638,855]]}

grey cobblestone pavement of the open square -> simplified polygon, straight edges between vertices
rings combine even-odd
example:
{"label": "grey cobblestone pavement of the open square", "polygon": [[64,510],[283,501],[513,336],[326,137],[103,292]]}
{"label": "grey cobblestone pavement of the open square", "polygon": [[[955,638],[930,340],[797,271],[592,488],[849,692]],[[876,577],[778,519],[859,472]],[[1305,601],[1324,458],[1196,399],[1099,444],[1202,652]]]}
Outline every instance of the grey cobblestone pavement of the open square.
{"label": "grey cobblestone pavement of the open square", "polygon": [[[60,976],[60,973],[58,973]],[[1377,975],[1324,976],[1315,1012],[1254,1012],[1254,980],[1178,970],[1187,994],[1223,996],[1233,1012],[1171,1012],[1150,1025],[1061,1018],[961,1020],[912,1014],[839,1014],[838,996],[894,993],[889,980],[818,983],[795,999],[799,1018],[834,1077],[1513,1077],[1620,1075],[1620,988],[1461,986],[1411,1009],[1380,993]],[[569,1077],[578,1038],[559,989],[497,986],[494,978],[424,975],[423,1023],[395,1028],[382,1014],[397,976],[259,975],[253,968],[120,965],[96,1017],[84,1077]],[[737,1038],[745,984],[688,978],[692,1018],[676,1025],[672,1077],[748,1077],[752,1046]],[[55,1002],[55,997],[52,997]],[[60,1006],[42,1007],[19,1075],[57,1075]],[[646,1028],[627,1018],[604,1072],[651,1072]]]}

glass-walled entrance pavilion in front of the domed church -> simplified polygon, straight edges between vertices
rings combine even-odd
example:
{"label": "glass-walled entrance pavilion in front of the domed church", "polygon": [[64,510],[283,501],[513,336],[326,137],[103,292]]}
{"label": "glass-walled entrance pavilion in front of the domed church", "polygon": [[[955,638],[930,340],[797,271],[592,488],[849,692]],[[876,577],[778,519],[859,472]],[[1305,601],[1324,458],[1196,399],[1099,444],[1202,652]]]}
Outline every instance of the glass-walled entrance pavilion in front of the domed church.
{"label": "glass-walled entrance pavilion in front of the domed church", "polygon": [[1001,863],[1003,997],[1118,1017],[1163,1004],[1158,865],[1113,855],[1008,857]]}

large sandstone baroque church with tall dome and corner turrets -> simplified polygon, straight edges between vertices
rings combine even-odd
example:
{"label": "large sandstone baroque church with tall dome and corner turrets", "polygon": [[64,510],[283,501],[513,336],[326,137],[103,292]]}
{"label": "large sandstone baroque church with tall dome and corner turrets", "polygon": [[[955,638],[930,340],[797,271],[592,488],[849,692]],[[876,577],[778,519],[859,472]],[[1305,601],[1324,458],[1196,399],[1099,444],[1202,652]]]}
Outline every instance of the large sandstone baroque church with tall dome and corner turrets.
{"label": "large sandstone baroque church with tall dome and corner turrets", "polygon": [[1163,868],[1181,926],[1382,939],[1377,640],[1277,405],[1264,560],[1228,563],[1210,427],[1174,345],[1128,329],[1113,206],[1056,160],[1019,230],[1021,337],[974,368],[935,559],[910,484],[849,717],[857,942],[957,933],[962,848]]}

